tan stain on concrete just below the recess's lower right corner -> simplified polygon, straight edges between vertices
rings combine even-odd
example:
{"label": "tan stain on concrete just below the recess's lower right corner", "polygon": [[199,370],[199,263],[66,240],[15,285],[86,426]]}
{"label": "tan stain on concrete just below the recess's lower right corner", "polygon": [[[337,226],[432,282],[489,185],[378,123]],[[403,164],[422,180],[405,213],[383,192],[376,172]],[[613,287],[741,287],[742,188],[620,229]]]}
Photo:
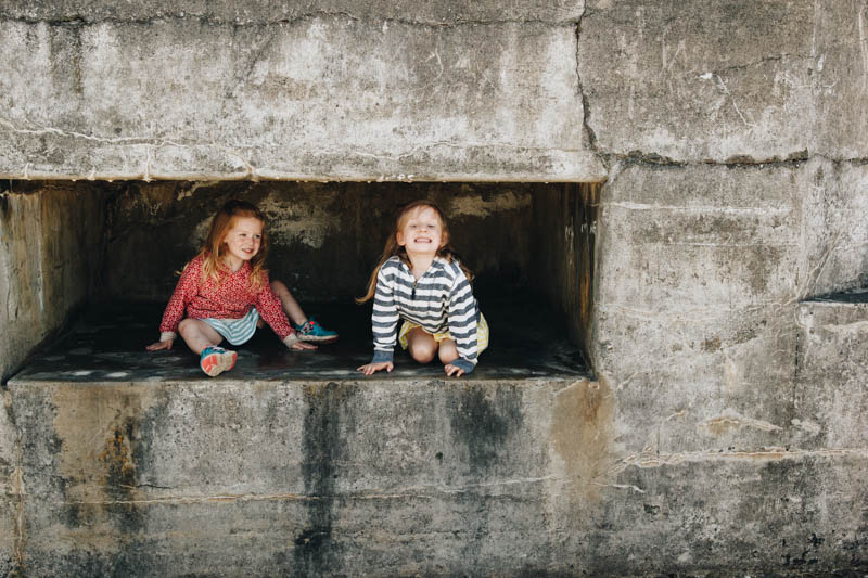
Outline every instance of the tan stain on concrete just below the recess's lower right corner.
{"label": "tan stain on concrete just below the recess's lower right corner", "polygon": [[582,380],[554,398],[550,437],[572,486],[573,506],[599,502],[614,480],[615,396],[604,380]]}

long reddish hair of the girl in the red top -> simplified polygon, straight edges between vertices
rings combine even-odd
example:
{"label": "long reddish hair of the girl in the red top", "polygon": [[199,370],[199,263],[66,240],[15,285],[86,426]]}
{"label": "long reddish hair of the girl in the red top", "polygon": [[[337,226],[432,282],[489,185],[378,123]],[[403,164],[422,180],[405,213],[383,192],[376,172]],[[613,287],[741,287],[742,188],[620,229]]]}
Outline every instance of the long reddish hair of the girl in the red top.
{"label": "long reddish hair of the girl in the red top", "polygon": [[250,284],[255,290],[263,286],[263,273],[268,270],[265,268],[265,258],[268,256],[268,233],[266,233],[266,219],[261,210],[256,205],[246,201],[232,200],[226,203],[210,220],[208,236],[202,245],[202,249],[196,257],[202,257],[202,280],[210,278],[216,283],[220,283],[220,268],[222,257],[226,255],[227,246],[224,240],[226,234],[232,229],[235,219],[252,217],[263,223],[263,239],[259,243],[259,252],[250,260],[251,274]]}

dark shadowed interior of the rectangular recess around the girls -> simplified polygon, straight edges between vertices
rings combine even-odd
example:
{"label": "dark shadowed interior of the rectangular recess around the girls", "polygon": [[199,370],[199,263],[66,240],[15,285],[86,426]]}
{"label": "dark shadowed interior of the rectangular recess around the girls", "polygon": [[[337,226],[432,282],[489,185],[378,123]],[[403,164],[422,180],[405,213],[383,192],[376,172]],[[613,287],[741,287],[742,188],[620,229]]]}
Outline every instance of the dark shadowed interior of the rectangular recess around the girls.
{"label": "dark shadowed interior of the rectangular recess around the girls", "polygon": [[[88,259],[87,307],[17,380],[201,378],[182,342],[171,352],[144,346],[158,338],[174,272],[195,255],[212,216],[230,198],[265,211],[271,279],[284,281],[307,314],[341,335],[316,352],[294,352],[259,330],[239,348],[230,377],[361,377],[355,368],[372,354],[370,305],[353,298],[363,293],[396,207],[416,198],[444,209],[452,245],[476,274],[474,294],[492,338],[473,377],[590,372],[585,351],[599,184],[13,181],[10,193],[81,195],[82,189],[95,208],[81,210],[85,221],[76,227],[88,239],[98,232],[87,245],[98,253]],[[441,376],[443,369],[396,349],[390,377],[417,375]]]}

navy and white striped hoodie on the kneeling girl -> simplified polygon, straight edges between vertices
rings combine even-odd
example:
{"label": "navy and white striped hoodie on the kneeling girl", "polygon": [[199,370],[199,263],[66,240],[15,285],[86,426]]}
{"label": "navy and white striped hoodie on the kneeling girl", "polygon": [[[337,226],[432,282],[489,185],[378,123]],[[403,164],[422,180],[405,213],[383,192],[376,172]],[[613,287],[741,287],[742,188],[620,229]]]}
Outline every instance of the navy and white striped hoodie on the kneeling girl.
{"label": "navy and white striped hoodie on the kneeling girl", "polygon": [[419,281],[399,257],[391,257],[376,274],[373,297],[373,359],[392,361],[398,335],[398,320],[418,323],[427,333],[455,338],[459,358],[452,362],[464,373],[476,365],[476,321],[478,307],[468,278],[458,261],[435,257]]}

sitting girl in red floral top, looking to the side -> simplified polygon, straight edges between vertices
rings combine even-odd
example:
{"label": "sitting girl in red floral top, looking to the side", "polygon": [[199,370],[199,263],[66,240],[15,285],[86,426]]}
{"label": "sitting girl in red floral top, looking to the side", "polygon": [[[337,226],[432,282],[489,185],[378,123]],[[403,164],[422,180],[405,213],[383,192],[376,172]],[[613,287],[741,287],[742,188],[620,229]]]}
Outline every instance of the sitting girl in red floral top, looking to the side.
{"label": "sitting girl in red floral top, looking to the side", "polygon": [[[202,251],[178,280],[159,324],[159,342],[148,350],[171,349],[180,333],[200,355],[202,371],[215,376],[232,369],[238,359],[235,351],[218,347],[219,343],[224,338],[232,345],[248,341],[260,317],[290,349],[316,349],[305,342],[337,338],[336,333],[305,317],[283,283],[268,282],[264,229],[265,216],[254,205],[244,201],[224,205],[212,219]],[[298,331],[290,325],[286,313],[298,323]]]}

